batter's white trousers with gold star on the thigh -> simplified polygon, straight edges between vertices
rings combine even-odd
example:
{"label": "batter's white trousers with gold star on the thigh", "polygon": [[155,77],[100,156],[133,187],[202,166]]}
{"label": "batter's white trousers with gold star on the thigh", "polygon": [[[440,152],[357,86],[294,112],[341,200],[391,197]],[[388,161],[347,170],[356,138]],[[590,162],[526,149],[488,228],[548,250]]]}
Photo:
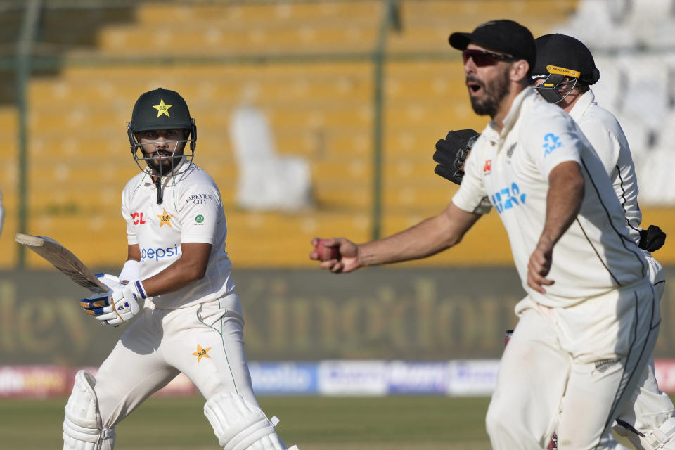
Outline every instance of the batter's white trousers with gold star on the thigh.
{"label": "batter's white trousers with gold star on the thigh", "polygon": [[236,294],[181,309],[156,309],[146,302],[96,373],[103,427],[120,423],[179,372],[207,400],[222,391],[237,392],[258,406],[244,353],[243,325]]}

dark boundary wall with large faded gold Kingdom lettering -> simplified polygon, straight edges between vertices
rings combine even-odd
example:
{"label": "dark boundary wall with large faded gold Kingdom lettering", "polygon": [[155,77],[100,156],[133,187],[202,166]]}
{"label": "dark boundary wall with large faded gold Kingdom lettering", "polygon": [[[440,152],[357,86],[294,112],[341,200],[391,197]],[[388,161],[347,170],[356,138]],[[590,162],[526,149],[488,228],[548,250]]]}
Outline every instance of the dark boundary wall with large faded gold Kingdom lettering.
{"label": "dark boundary wall with large faded gold Kingdom lettering", "polygon": [[[675,267],[657,358],[675,359]],[[241,270],[250,361],[499,359],[523,296],[515,269]],[[98,366],[124,328],[84,314],[89,293],[56,270],[0,272],[0,361]]]}

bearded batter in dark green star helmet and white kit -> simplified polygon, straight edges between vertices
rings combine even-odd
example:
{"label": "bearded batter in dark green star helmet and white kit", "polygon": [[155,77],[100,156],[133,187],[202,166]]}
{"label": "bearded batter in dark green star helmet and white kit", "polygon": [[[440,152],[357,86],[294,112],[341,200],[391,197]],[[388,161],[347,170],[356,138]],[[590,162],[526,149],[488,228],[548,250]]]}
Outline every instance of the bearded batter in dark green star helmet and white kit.
{"label": "bearded batter in dark green star helmet and white kit", "polygon": [[[251,386],[243,314],[225,251],[219,190],[192,159],[195,121],[174,91],[142,94],[128,127],[141,168],[122,193],[129,257],[110,292],[82,300],[109,326],[129,324],[96,377],[79,371],[63,423],[63,448],[109,450],[115,425],[184,373],[228,450],[285,450]],[[186,152],[186,144],[188,152]]]}

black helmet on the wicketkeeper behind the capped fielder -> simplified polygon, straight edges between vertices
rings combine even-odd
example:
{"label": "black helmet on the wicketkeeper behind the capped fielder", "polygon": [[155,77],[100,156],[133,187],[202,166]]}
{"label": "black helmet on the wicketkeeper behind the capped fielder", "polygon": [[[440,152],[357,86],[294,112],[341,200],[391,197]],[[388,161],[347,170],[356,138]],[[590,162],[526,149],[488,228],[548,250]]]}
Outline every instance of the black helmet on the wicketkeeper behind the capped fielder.
{"label": "black helmet on the wicketkeeper behind the capped fielder", "polygon": [[579,79],[586,84],[593,84],[600,79],[600,70],[596,68],[593,55],[579,39],[566,34],[545,34],[534,40],[536,46],[536,62],[532,75],[548,75],[546,66],[576,70],[581,73]]}

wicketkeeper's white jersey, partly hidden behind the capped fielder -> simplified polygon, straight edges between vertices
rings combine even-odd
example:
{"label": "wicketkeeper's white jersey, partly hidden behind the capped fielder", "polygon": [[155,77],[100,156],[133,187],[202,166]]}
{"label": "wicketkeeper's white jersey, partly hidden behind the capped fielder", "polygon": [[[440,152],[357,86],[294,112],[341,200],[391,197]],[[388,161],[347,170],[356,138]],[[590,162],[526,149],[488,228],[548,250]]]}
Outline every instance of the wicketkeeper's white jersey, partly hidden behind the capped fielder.
{"label": "wicketkeeper's white jersey, partly hidden behind the capped fielder", "polygon": [[570,115],[603,162],[624,208],[629,235],[638,243],[642,212],[638,206],[638,181],[631,149],[617,118],[595,100],[593,91],[584,92],[574,103]]}

